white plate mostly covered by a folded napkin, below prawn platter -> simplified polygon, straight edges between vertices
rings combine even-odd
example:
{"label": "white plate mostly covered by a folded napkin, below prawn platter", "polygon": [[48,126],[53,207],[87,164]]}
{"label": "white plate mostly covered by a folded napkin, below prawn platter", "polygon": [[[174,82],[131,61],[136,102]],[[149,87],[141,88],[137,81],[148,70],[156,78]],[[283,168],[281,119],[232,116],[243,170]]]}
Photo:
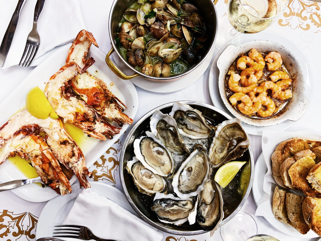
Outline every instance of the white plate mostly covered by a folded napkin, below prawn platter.
{"label": "white plate mostly covered by a folded napkin, below prawn platter", "polygon": [[[129,205],[124,193],[119,191],[116,187],[110,186],[105,183],[99,182],[89,182],[91,185],[91,191],[96,192],[97,194],[108,198],[109,200],[117,203],[120,207],[136,214],[136,212]],[[82,189],[77,188],[79,186],[77,183],[72,185],[73,192],[65,196],[57,196],[56,198],[48,201],[43,210],[40,213],[37,231],[36,231],[36,240],[43,237],[52,237],[53,230],[55,225],[62,224],[67,217],[69,211],[71,210],[76,197],[82,191]],[[75,190],[75,191],[74,191]],[[99,220],[98,220],[99,221]],[[73,240],[74,238],[63,238],[64,240]]]}

